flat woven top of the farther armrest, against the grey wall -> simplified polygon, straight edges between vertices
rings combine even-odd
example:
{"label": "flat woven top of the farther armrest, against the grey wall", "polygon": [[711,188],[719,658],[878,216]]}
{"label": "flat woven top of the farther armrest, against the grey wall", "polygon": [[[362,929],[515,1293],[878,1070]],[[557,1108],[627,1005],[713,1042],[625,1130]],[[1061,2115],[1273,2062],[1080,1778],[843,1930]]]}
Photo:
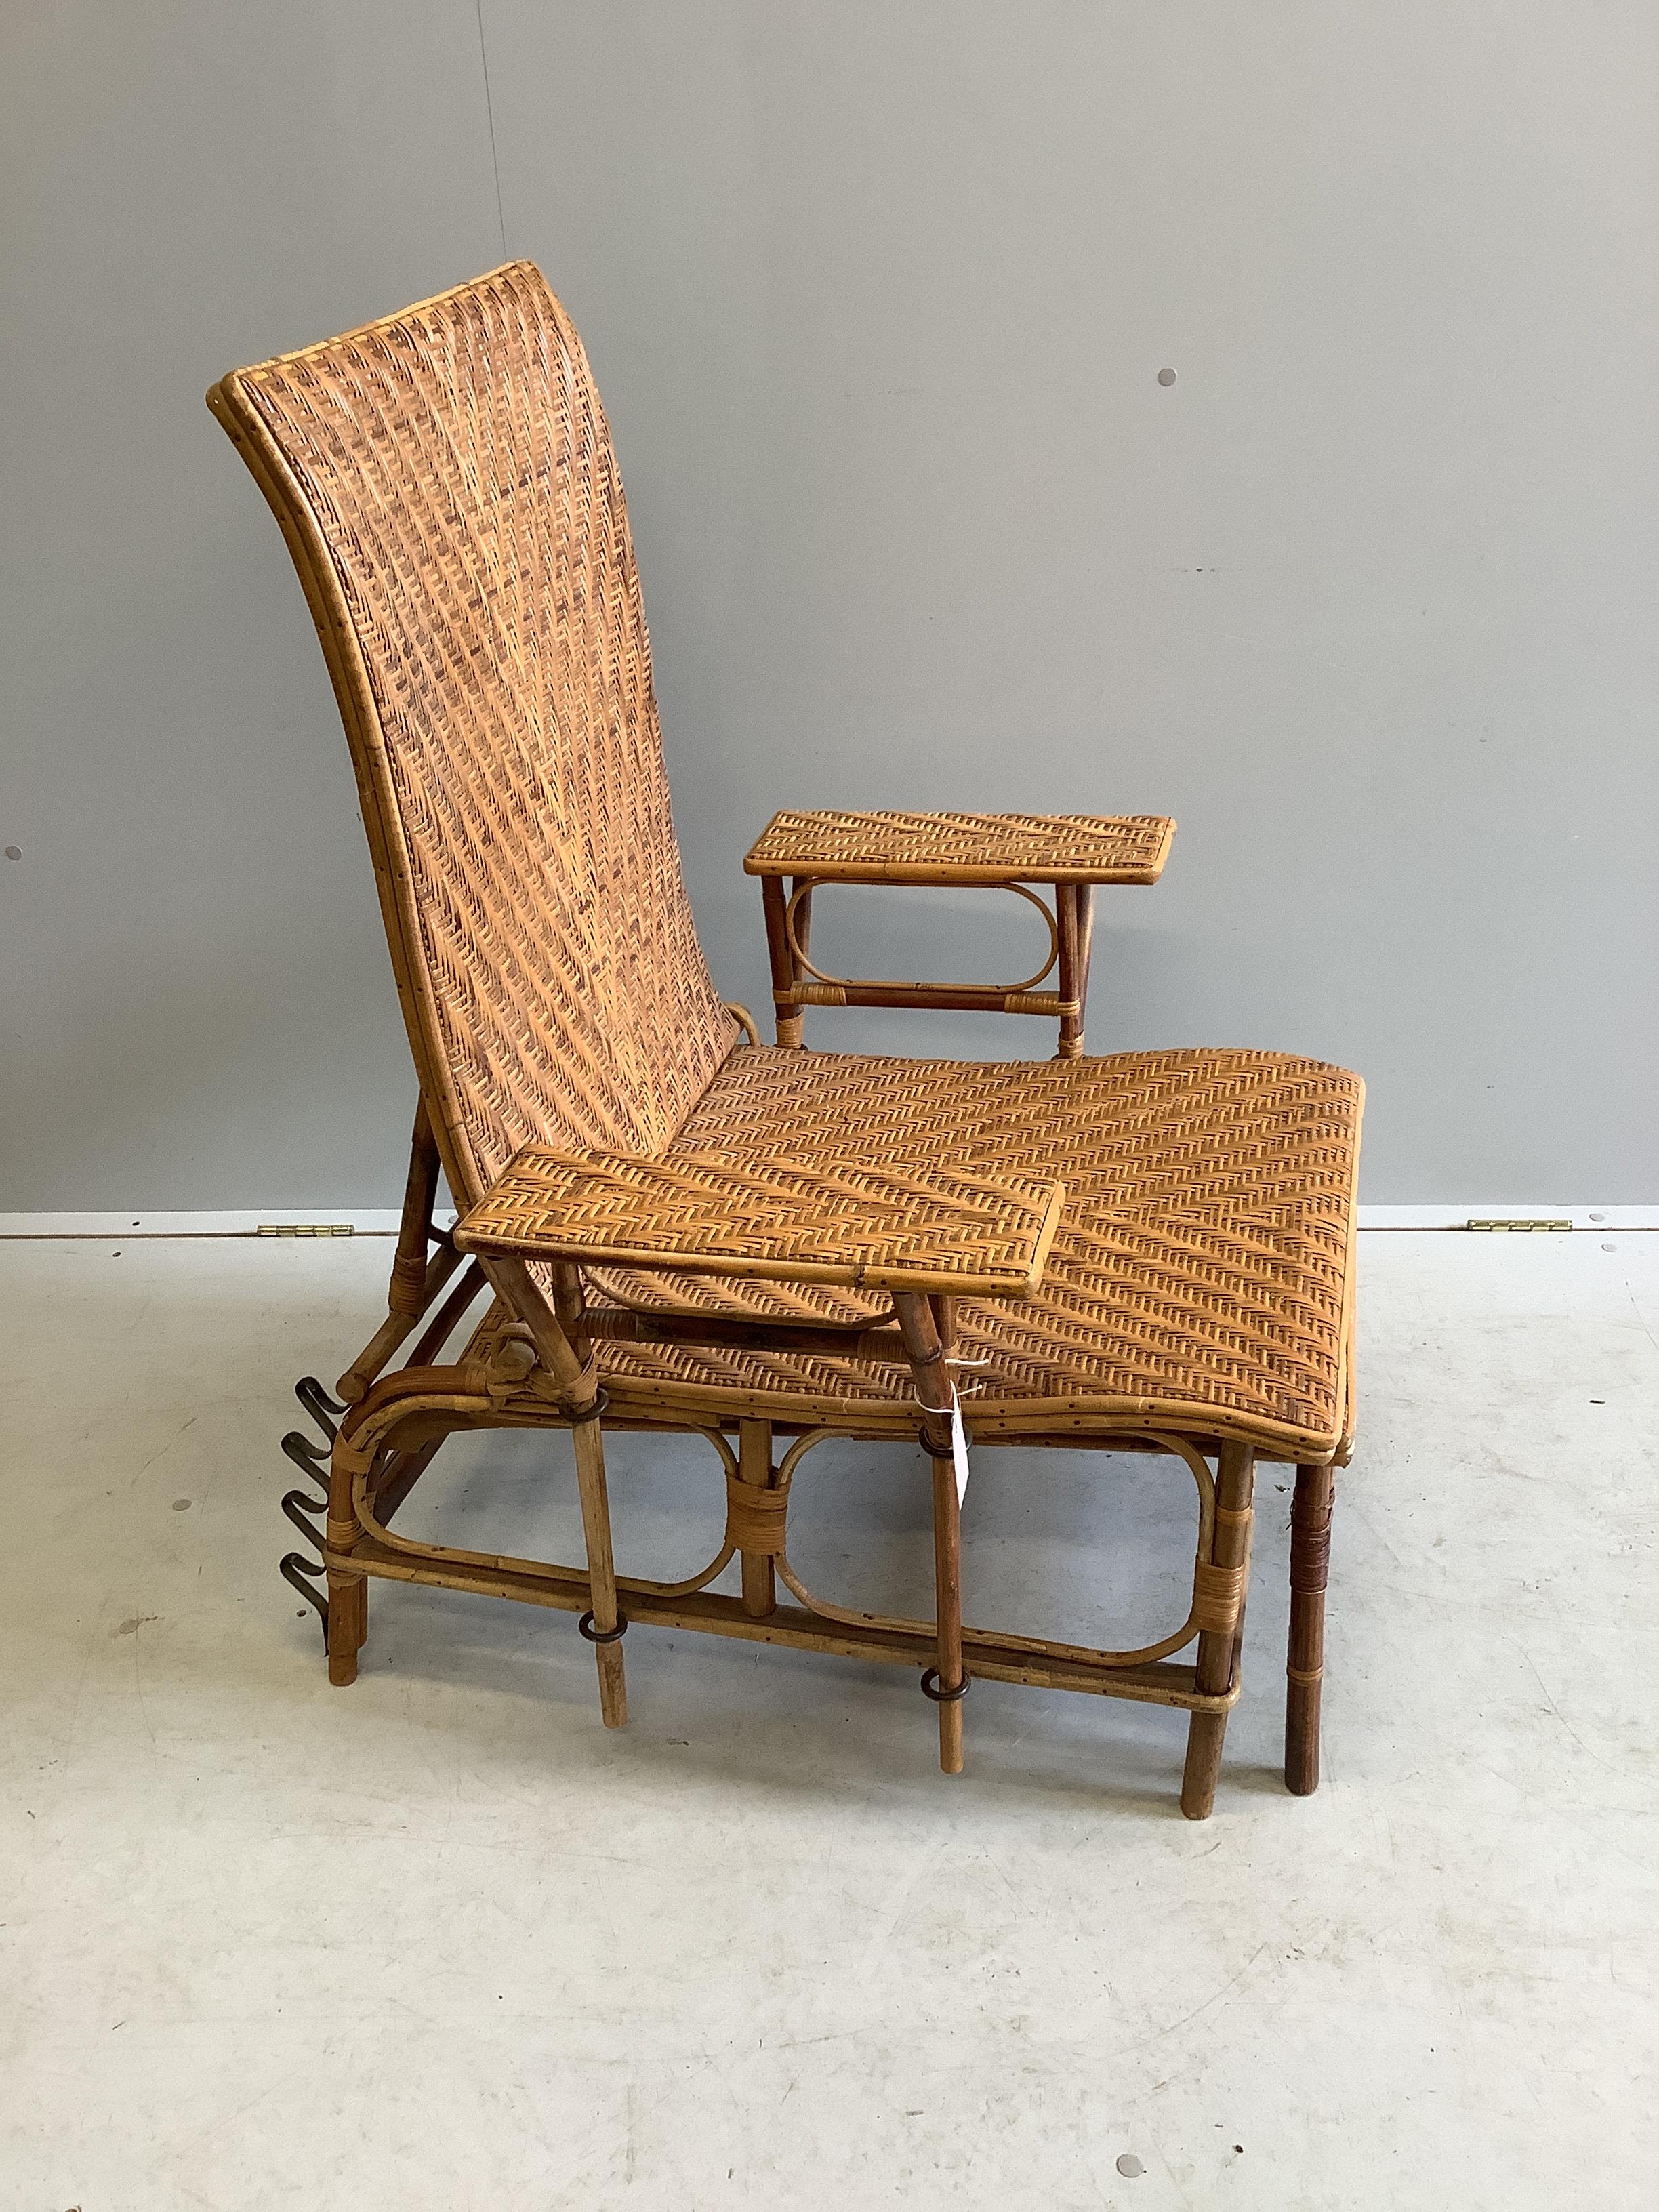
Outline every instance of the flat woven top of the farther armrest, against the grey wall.
{"label": "flat woven top of the farther armrest, against the grey wall", "polygon": [[1168,814],[774,814],[750,876],[816,883],[1157,883]]}

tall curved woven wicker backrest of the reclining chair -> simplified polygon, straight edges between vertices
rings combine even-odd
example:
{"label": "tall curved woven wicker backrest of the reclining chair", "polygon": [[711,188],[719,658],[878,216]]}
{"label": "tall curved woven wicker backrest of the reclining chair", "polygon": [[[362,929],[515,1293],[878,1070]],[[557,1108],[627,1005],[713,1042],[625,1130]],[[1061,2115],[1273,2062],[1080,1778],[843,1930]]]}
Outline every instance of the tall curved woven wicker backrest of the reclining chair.
{"label": "tall curved woven wicker backrest of the reclining chair", "polygon": [[460,1206],[526,1141],[659,1150],[730,1051],[668,814],[622,480],[515,261],[208,405],[316,617]]}

